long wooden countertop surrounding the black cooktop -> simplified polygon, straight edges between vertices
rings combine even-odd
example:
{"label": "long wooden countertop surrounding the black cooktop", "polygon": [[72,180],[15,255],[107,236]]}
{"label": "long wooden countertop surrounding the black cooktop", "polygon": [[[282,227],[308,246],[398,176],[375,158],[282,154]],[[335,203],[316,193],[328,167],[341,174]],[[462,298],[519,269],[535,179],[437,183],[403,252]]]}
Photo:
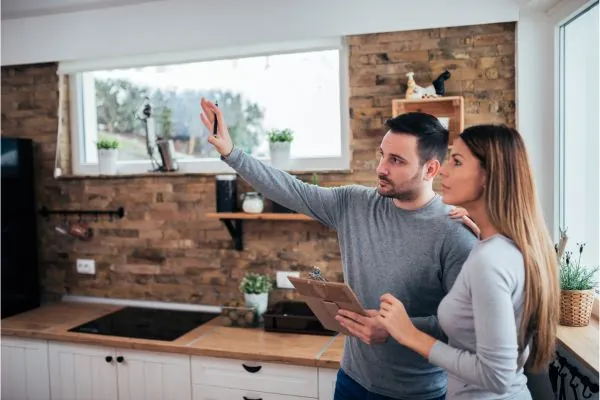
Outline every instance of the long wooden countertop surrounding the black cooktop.
{"label": "long wooden countertop surrounding the black cooktop", "polygon": [[[69,332],[69,329],[123,306],[64,302],[2,320],[3,336],[57,340],[137,350],[235,358],[247,361],[339,368],[342,336],[265,332],[262,328],[230,328],[216,318],[174,341]],[[337,355],[337,359],[336,359]]]}

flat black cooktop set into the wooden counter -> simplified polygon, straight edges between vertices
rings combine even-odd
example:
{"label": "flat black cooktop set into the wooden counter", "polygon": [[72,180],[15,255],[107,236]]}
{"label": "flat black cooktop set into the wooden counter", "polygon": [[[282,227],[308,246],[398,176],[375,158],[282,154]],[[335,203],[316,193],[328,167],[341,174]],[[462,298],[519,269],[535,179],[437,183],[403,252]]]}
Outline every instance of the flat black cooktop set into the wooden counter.
{"label": "flat black cooktop set into the wooden counter", "polygon": [[69,332],[172,341],[217,316],[217,312],[124,307]]}

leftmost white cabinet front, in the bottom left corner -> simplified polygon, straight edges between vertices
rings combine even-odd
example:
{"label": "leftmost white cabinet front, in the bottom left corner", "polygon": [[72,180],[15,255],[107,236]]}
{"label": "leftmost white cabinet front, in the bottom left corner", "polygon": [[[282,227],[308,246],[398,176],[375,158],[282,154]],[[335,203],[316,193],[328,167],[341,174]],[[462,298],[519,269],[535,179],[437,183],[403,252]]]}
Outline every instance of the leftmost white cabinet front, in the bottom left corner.
{"label": "leftmost white cabinet front, in the bottom left corner", "polygon": [[50,400],[48,343],[2,337],[2,398]]}

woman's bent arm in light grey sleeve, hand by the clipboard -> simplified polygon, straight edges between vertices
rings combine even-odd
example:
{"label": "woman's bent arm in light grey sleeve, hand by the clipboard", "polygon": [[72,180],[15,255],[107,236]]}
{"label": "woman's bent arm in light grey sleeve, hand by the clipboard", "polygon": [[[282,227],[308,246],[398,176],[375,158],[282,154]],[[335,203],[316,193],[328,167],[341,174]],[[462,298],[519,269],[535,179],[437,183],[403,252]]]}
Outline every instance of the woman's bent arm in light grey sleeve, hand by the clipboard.
{"label": "woman's bent arm in light grey sleeve, hand by the clipboard", "polygon": [[385,324],[396,340],[431,363],[465,382],[504,393],[512,383],[518,362],[517,326],[511,297],[514,277],[509,270],[494,262],[469,265],[470,284],[466,287],[470,288],[472,298],[475,353],[454,348],[409,325],[408,315],[403,319],[399,311],[398,304],[402,303],[388,295],[382,298],[382,309],[388,309],[383,310],[387,312],[387,317],[382,316],[383,321],[387,319]]}

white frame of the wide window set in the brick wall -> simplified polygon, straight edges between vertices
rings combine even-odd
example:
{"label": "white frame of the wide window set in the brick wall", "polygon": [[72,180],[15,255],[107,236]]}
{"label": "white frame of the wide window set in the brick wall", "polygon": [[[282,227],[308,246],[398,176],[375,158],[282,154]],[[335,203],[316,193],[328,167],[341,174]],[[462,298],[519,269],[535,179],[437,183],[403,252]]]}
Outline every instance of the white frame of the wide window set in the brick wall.
{"label": "white frame of the wide window set in the brick wall", "polygon": [[[340,88],[340,152],[333,157],[292,157],[288,171],[317,172],[317,171],[342,171],[350,170],[350,114],[349,114],[349,50],[345,38],[336,37],[322,40],[271,43],[243,48],[226,48],[219,50],[201,50],[180,53],[162,53],[158,55],[141,55],[120,57],[115,59],[85,60],[64,62],[59,65],[58,73],[69,75],[69,111],[70,111],[70,137],[71,137],[71,168],[73,175],[93,176],[98,175],[97,163],[83,162],[84,152],[90,151],[93,139],[86,137],[86,123],[95,124],[95,97],[89,90],[93,82],[86,82],[82,72],[111,69],[135,68],[147,65],[166,65],[186,62],[202,62],[214,60],[227,60],[243,57],[256,57],[266,55],[281,55],[319,50],[337,50],[339,52],[339,88]],[[93,88],[93,86],[92,86]],[[87,97],[87,98],[86,98]],[[93,97],[93,98],[90,98]],[[89,104],[94,102],[94,106]],[[87,107],[84,105],[88,104]],[[87,121],[86,121],[87,120]],[[95,148],[93,149],[95,151]],[[268,157],[259,158],[269,164]],[[212,175],[235,172],[226,163],[218,158],[178,160],[181,174]],[[145,161],[119,161],[117,175],[143,175],[151,172],[152,163]]]}

